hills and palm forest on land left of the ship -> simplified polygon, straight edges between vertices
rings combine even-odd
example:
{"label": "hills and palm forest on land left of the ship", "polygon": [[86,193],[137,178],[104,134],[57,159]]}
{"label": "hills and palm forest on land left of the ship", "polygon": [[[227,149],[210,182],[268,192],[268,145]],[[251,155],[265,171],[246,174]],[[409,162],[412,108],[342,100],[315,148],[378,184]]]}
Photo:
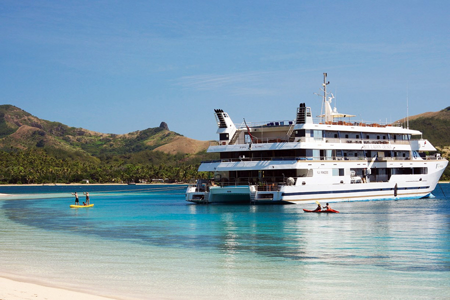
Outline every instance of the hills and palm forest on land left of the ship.
{"label": "hills and palm forest on land left of the ship", "polygon": [[40,119],[13,105],[0,105],[2,183],[129,182],[191,180],[208,141],[159,127],[106,134]]}

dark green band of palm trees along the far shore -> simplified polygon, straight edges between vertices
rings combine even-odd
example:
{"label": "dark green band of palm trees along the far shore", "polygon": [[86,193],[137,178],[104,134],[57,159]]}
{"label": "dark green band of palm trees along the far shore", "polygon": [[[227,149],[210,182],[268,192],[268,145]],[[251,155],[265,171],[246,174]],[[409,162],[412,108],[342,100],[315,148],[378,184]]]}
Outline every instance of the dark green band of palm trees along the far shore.
{"label": "dark green band of palm trees along the far shore", "polygon": [[198,163],[94,163],[55,158],[36,149],[0,151],[0,184],[81,183],[83,180],[88,180],[89,183],[158,182],[155,179],[164,179],[164,182],[190,182],[211,176],[210,173],[198,172],[197,169]]}

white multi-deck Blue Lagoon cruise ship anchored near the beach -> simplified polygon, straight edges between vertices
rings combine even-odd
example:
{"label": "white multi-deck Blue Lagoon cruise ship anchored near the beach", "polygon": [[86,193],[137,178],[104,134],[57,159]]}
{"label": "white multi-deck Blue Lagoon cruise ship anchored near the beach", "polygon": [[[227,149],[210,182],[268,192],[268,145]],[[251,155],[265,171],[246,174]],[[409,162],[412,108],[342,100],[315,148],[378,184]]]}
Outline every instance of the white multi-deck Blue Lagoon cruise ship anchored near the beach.
{"label": "white multi-deck Blue Lagoon cruise ship anchored near the beach", "polygon": [[295,118],[234,124],[214,109],[219,140],[198,170],[214,177],[186,190],[194,203],[314,203],[431,196],[448,161],[399,123],[350,121],[331,109],[323,73],[324,113],[312,118],[300,103]]}

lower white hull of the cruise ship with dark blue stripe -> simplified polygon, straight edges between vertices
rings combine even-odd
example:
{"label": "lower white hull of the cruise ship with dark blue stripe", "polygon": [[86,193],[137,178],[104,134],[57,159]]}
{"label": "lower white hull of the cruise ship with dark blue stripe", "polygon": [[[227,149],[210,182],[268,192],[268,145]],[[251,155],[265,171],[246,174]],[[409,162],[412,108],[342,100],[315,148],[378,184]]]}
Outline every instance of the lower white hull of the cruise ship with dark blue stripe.
{"label": "lower white hull of the cruise ship with dark blue stripe", "polygon": [[[419,162],[416,162],[419,163]],[[420,162],[420,163],[423,163]],[[247,204],[287,204],[315,203],[316,201],[364,201],[364,200],[397,200],[418,199],[432,196],[440,175],[445,168],[446,160],[427,160],[429,173],[415,175],[392,175],[385,182],[353,182],[328,183],[327,178],[307,181],[308,178],[296,178],[295,185],[282,185],[276,190],[258,190],[257,185],[213,186],[203,193],[188,188],[186,200],[194,203],[247,203]],[[332,164],[332,162],[330,162]],[[312,162],[313,165],[313,162]],[[321,163],[323,167],[323,163]],[[326,167],[326,165],[325,165]],[[328,177],[331,178],[331,177]],[[348,178],[347,178],[348,179]],[[304,180],[304,181],[302,181]],[[312,180],[312,179],[311,179]],[[331,179],[328,179],[330,181]],[[192,195],[201,194],[201,200]]]}

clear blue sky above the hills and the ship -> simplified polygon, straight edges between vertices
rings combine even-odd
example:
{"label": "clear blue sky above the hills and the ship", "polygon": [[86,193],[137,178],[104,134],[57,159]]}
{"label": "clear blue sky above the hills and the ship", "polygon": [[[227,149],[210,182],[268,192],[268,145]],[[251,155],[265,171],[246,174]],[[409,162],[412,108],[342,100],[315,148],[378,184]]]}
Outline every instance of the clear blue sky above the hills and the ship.
{"label": "clear blue sky above the hills and the ship", "polygon": [[0,104],[104,133],[215,139],[235,123],[450,105],[449,1],[0,1]]}

